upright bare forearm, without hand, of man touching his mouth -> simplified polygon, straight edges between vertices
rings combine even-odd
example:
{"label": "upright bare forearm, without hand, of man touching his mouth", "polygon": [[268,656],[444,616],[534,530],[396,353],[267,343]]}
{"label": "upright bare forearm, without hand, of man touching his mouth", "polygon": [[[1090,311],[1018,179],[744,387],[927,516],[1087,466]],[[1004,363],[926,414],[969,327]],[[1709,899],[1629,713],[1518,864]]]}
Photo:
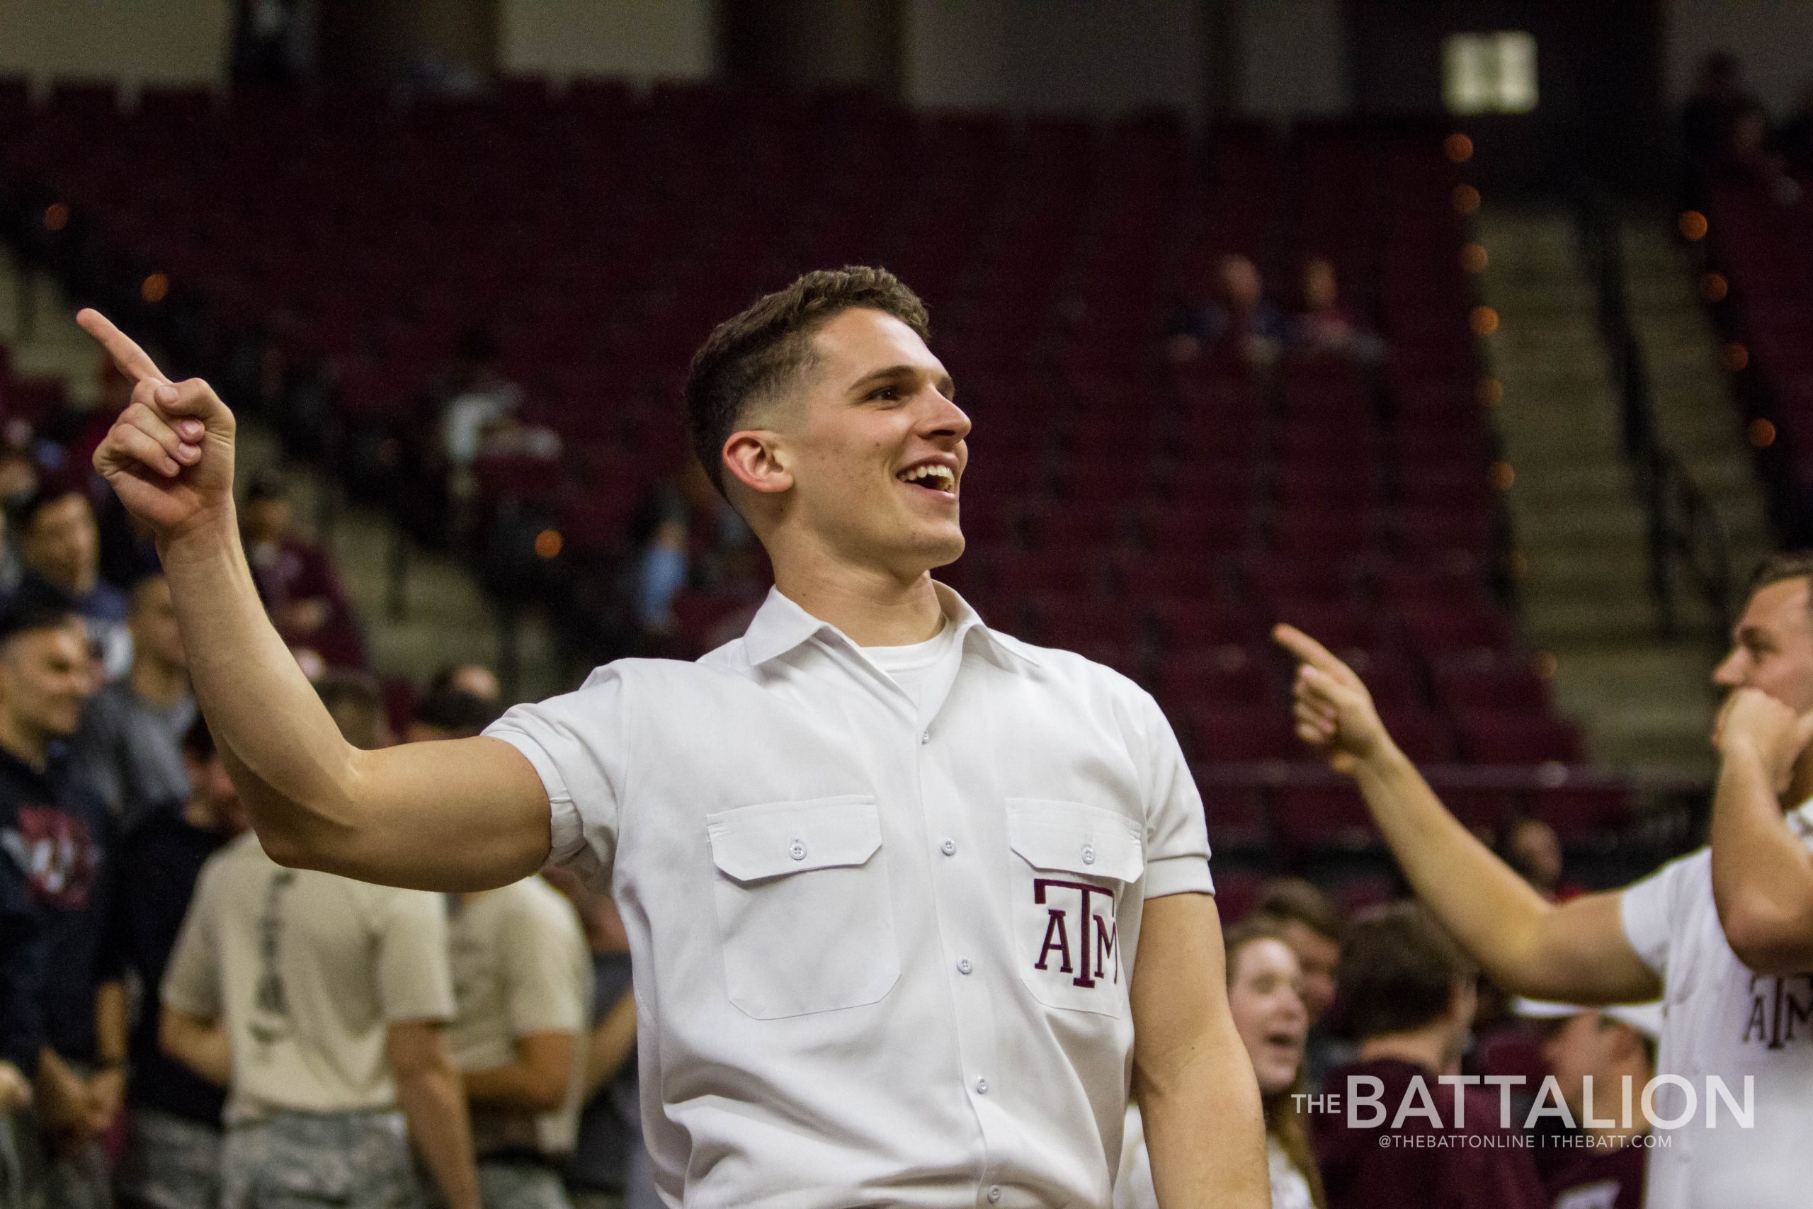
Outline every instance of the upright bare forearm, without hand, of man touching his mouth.
{"label": "upright bare forearm, without hand, of man touching his mouth", "polygon": [[1757,752],[1733,743],[1711,812],[1711,890],[1731,950],[1759,973],[1813,959],[1813,859],[1788,830]]}

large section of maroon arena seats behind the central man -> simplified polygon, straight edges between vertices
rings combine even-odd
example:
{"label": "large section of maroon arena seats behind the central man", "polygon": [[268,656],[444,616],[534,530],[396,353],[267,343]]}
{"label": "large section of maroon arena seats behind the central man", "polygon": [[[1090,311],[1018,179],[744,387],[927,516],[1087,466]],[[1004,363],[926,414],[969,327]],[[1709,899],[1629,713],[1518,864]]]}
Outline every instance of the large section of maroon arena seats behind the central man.
{"label": "large section of maroon arena seats behind the central man", "polygon": [[[1517,808],[1579,839],[1624,810],[1588,772],[1492,776],[1581,749],[1494,593],[1501,504],[1438,134],[1193,138],[1166,114],[700,85],[412,107],[149,91],[123,116],[96,89],[5,96],[0,169],[34,205],[67,203],[216,328],[326,366],[330,459],[361,431],[430,440],[424,382],[461,332],[495,332],[566,457],[480,468],[488,500],[549,509],[573,566],[620,555],[684,457],[680,384],[714,321],[807,266],[888,265],[975,422],[952,582],[1010,633],[1149,685],[1224,848],[1371,841],[1291,734],[1276,618],[1363,669],[1470,821]],[[1280,295],[1302,257],[1333,257],[1389,361],[1173,366],[1164,319],[1226,252]]]}

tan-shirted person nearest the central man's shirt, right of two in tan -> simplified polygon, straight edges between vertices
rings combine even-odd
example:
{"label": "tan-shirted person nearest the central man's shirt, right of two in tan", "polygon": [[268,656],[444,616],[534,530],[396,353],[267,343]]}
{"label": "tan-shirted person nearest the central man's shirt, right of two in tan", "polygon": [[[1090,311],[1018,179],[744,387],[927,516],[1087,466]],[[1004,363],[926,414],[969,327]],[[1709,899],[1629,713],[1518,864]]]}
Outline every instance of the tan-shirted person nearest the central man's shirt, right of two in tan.
{"label": "tan-shirted person nearest the central man's shirt, right of two in tan", "polygon": [[591,955],[540,877],[453,895],[453,1066],[471,1106],[486,1209],[560,1209],[591,1024]]}

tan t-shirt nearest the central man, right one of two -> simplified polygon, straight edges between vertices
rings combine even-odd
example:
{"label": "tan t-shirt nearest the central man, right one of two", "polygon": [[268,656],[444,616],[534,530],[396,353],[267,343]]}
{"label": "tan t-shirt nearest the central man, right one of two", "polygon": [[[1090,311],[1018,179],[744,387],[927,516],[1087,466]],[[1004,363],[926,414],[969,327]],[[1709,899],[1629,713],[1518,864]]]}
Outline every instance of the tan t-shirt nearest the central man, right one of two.
{"label": "tan t-shirt nearest the central man, right one of two", "polygon": [[566,1155],[578,1133],[591,1008],[591,953],[573,904],[540,877],[466,895],[450,917],[453,1001],[448,1030],[453,1066],[488,1071],[515,1060],[519,1037],[573,1033],[573,1077],[555,1113],[529,1117],[473,1106],[480,1156],[500,1149]]}

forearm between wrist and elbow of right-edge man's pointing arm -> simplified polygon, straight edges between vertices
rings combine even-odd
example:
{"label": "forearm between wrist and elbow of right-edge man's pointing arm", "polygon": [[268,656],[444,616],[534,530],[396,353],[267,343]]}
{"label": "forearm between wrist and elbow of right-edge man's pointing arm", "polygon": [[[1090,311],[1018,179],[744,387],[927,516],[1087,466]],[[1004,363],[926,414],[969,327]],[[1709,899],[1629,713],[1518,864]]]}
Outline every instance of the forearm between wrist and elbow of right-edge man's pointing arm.
{"label": "forearm between wrist and elbow of right-edge man's pointing arm", "polygon": [[1449,814],[1394,745],[1362,761],[1354,781],[1416,897],[1492,981],[1521,991],[1548,903]]}

